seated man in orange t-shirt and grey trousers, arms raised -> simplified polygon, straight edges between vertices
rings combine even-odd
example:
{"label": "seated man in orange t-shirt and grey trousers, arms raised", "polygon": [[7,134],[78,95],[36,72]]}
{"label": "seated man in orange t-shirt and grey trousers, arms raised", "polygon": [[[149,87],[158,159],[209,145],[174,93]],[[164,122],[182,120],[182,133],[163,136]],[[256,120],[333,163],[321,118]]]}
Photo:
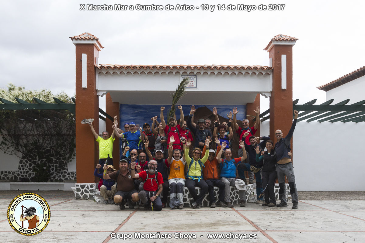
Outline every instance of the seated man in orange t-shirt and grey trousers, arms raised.
{"label": "seated man in orange t-shirt and grey trousers, arms raised", "polygon": [[[170,164],[170,207],[172,209],[184,209],[183,190],[185,185],[185,155],[180,158],[180,150],[174,149],[175,139],[170,138],[169,157],[167,162]],[[185,149],[186,145],[183,143]],[[172,156],[174,159],[172,159]]]}

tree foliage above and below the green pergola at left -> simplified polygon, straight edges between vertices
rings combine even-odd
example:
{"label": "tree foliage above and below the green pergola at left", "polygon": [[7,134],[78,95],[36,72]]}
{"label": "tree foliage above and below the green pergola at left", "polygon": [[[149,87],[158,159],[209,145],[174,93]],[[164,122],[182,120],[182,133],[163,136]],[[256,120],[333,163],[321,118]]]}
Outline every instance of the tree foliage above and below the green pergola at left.
{"label": "tree foliage above and below the green pergola at left", "polygon": [[[53,95],[50,90],[25,90],[13,84],[0,89],[0,97],[12,102],[15,97],[27,102],[34,102],[33,97],[47,103],[54,102],[53,97],[71,102],[64,92]],[[0,110],[0,135],[0,151],[28,161],[34,181],[51,179],[50,174],[57,173],[54,168],[64,170],[75,156],[76,125],[68,110]]]}

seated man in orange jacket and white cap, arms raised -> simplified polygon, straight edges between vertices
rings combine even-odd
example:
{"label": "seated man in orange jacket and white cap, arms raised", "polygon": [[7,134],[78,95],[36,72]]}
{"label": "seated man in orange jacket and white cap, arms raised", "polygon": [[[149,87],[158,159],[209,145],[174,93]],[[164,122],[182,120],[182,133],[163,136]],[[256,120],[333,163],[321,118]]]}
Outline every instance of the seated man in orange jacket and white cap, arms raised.
{"label": "seated man in orange jacket and white cap, arms raised", "polygon": [[[218,145],[217,153],[220,150],[220,142],[217,137],[215,138],[215,142]],[[205,146],[203,149],[203,152],[201,156],[203,157],[205,154]],[[219,206],[222,208],[227,207],[226,204],[223,203],[224,201],[224,183],[219,180],[218,175],[218,161],[215,158],[215,151],[213,149],[209,150],[209,156],[207,162],[204,164],[205,167],[203,167],[203,178],[205,182],[208,184],[208,193],[209,193],[209,201],[210,201],[210,207],[215,208],[215,206]],[[218,202],[216,203],[216,198],[214,197],[214,187],[218,187]]]}

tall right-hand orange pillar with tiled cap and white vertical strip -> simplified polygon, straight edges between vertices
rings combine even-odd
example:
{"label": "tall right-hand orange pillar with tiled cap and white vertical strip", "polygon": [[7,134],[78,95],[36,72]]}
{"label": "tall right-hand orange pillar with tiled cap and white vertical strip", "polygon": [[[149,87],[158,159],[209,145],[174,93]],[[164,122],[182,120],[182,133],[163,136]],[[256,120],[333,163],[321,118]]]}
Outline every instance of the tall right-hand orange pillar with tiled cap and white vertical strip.
{"label": "tall right-hand orange pillar with tiled cap and white vertical strip", "polygon": [[[284,136],[293,120],[293,55],[296,38],[285,35],[275,36],[265,48],[272,58],[272,93],[270,97],[270,137],[276,142],[275,130]],[[286,65],[285,65],[286,63]]]}

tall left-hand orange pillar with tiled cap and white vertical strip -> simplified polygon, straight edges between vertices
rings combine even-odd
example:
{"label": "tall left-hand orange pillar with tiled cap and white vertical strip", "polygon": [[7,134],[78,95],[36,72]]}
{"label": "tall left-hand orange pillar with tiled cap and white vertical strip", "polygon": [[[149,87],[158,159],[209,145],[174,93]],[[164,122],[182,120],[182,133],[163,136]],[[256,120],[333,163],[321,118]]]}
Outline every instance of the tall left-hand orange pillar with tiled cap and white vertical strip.
{"label": "tall left-hand orange pillar with tiled cap and white vertical strip", "polygon": [[96,133],[99,132],[95,65],[100,51],[97,44],[100,43],[89,33],[70,38],[76,46],[76,181],[94,183],[93,174],[99,161],[99,146],[89,125],[81,124],[81,120],[93,118],[94,129]]}

